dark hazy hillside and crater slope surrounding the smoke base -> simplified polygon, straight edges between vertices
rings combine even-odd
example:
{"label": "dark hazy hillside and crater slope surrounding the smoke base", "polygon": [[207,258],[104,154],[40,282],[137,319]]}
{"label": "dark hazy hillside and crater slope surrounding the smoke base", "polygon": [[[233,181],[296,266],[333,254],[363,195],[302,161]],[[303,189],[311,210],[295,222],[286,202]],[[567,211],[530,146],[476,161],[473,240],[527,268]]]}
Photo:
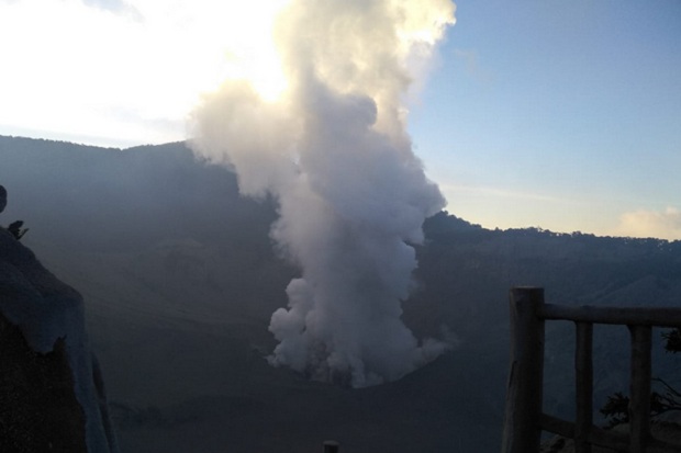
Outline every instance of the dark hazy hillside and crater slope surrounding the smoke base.
{"label": "dark hazy hillside and crater slope surrounding the smoke base", "polygon": [[[86,301],[123,452],[496,452],[507,367],[507,290],[552,303],[676,305],[681,242],[488,230],[440,213],[417,248],[404,320],[458,348],[402,380],[350,390],[264,356],[297,270],[272,251],[276,204],[238,196],[227,169],[183,144],[126,150],[0,137],[0,224]],[[626,330],[626,329],[625,329]],[[626,331],[596,331],[596,397],[625,389]],[[569,326],[547,337],[547,405],[569,414]],[[661,350],[661,348],[659,348]],[[660,374],[673,358],[658,358]]]}

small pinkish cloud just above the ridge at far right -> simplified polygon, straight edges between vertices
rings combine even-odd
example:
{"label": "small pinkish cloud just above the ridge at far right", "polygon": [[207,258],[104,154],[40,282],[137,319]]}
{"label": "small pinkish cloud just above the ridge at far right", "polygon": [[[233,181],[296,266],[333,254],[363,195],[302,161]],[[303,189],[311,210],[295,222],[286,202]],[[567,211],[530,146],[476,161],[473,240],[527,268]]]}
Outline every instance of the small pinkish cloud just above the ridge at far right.
{"label": "small pinkish cloud just above the ridge at far right", "polygon": [[622,214],[616,236],[640,238],[681,239],[681,211],[667,207],[665,211],[633,211]]}

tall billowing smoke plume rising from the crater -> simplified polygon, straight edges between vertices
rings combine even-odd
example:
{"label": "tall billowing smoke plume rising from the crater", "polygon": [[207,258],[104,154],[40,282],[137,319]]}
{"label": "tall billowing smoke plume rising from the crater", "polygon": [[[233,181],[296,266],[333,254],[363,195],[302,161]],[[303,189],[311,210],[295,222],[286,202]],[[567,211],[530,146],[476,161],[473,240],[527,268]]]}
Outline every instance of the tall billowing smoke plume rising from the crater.
{"label": "tall billowing smoke plume rising from the crater", "polygon": [[288,89],[226,81],[196,111],[193,147],[272,195],[271,229],[302,276],[269,326],[269,361],[355,387],[400,378],[449,344],[401,320],[426,217],[444,207],[405,131],[404,98],[455,7],[448,0],[294,0],[275,27]]}

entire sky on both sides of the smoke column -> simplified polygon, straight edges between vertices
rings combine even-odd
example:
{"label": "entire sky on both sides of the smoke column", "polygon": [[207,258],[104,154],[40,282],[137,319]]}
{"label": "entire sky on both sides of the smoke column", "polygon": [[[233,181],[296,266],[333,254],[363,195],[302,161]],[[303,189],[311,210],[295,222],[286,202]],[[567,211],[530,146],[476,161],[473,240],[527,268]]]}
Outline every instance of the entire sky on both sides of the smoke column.
{"label": "entire sky on both sides of the smoke column", "polygon": [[[0,134],[185,139],[226,77],[283,89],[267,36],[284,3],[0,0]],[[681,2],[456,4],[405,97],[447,211],[488,228],[681,239]]]}

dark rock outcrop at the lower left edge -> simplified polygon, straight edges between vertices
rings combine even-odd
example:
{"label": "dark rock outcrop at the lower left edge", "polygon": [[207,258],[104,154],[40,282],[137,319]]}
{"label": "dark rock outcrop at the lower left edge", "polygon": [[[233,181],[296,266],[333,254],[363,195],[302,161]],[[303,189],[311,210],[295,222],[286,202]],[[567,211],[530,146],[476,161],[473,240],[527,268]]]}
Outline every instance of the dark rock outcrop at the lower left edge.
{"label": "dark rock outcrop at the lower left edge", "polygon": [[82,297],[0,228],[0,451],[118,452]]}

